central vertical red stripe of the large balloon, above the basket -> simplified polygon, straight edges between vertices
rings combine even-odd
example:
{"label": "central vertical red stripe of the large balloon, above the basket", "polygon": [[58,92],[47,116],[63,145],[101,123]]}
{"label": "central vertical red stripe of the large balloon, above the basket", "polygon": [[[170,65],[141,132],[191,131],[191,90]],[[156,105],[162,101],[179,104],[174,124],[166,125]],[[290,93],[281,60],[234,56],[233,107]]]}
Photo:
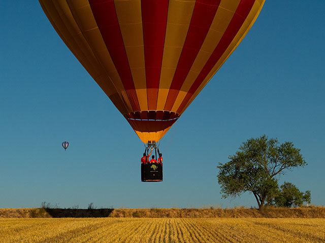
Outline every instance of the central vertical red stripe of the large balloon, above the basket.
{"label": "central vertical red stripe of the large balloon, above the basket", "polygon": [[143,44],[149,110],[157,106],[169,0],[142,0]]}

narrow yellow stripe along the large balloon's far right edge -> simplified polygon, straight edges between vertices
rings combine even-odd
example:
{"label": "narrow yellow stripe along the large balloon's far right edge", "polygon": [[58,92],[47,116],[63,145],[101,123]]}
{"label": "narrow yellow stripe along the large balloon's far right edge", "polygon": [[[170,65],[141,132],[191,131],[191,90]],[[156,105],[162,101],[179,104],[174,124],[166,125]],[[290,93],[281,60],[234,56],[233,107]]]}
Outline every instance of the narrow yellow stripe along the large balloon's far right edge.
{"label": "narrow yellow stripe along the large balloon's far right edge", "polygon": [[210,73],[207,75],[207,77],[204,79],[202,84],[199,86],[197,91],[193,94],[193,96],[190,98],[190,100],[187,102],[184,109],[180,112],[181,114],[186,110],[186,108],[190,105],[190,103],[197,97],[197,95],[201,92],[201,90],[207,85],[209,80],[213,77],[213,75],[219,70],[219,68],[222,66],[222,64],[228,59],[228,57],[234,52],[234,50],[238,47],[242,39],[245,37],[251,26],[254,24],[255,20],[257,19],[259,13],[262,10],[262,7],[265,3],[265,0],[257,0],[255,1],[252,10],[250,11],[249,15],[247,16],[243,26],[240,28],[239,32],[235,36],[233,42],[229,46],[229,48],[224,52],[222,57],[219,59],[219,61],[216,63],[216,65],[212,68]]}

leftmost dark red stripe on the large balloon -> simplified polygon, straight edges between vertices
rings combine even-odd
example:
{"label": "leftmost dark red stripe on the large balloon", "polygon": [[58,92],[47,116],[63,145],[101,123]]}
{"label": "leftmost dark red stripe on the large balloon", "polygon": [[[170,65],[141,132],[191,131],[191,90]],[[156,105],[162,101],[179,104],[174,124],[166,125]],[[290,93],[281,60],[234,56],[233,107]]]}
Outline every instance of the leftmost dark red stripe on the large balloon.
{"label": "leftmost dark red stripe on the large balloon", "polygon": [[[118,23],[113,0],[89,0],[89,4],[101,31],[105,45],[110,53],[116,70],[122,80],[124,89],[134,111],[140,110],[135,86],[128,64],[123,37]],[[131,94],[132,97],[129,97]]]}

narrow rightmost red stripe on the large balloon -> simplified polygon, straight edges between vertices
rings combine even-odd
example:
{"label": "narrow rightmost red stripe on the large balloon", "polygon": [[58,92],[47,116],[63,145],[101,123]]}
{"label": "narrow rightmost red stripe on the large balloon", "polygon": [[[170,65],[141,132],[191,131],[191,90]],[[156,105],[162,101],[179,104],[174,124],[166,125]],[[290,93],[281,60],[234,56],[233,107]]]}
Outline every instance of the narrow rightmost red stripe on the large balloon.
{"label": "narrow rightmost red stripe on the large balloon", "polygon": [[223,53],[229,47],[229,45],[233,41],[234,37],[236,36],[236,34],[240,30],[241,26],[243,25],[249,12],[251,11],[254,3],[255,3],[255,0],[242,0],[240,2],[240,4],[238,5],[238,8],[236,10],[236,13],[234,14],[234,17],[231,20],[227,29],[225,30],[222,38],[220,39],[219,44],[214,49],[209,60],[207,61],[207,63],[203,67],[203,69],[201,70],[200,74],[198,75],[197,79],[195,80],[195,82],[193,83],[191,88],[189,89],[188,94],[185,96],[183,102],[181,103],[180,107],[178,108],[177,113],[180,113],[184,109],[184,107],[186,106],[187,102],[190,100],[192,95],[197,91],[197,89],[202,84],[203,80],[206,78],[206,76],[212,70],[214,65],[217,63],[217,61],[221,58]]}

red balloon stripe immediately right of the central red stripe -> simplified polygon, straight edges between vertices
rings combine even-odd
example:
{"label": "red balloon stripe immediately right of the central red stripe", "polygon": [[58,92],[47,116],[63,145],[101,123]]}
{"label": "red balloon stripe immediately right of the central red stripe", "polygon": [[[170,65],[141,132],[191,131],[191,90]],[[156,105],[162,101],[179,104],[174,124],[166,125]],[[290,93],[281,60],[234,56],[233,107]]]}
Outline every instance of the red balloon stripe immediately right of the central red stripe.
{"label": "red balloon stripe immediately right of the central red stripe", "polygon": [[200,0],[196,2],[182,53],[170,87],[170,90],[175,91],[169,92],[165,110],[172,109],[179,90],[181,89],[185,78],[208,34],[220,2],[221,0]]}

